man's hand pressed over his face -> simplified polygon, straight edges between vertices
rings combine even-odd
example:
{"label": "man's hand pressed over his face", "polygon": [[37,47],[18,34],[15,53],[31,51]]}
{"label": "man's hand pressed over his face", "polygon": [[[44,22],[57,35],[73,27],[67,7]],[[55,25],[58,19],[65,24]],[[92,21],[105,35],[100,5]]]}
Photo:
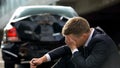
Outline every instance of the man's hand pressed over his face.
{"label": "man's hand pressed over his face", "polygon": [[71,39],[70,36],[65,36],[65,43],[70,47],[71,50],[77,48],[75,40]]}

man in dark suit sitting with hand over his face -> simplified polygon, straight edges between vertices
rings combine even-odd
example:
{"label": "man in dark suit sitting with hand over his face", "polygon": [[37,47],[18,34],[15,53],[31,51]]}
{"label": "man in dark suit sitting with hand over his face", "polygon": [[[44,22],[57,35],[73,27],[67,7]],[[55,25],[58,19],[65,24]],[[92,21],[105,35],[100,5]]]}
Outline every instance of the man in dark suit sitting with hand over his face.
{"label": "man in dark suit sitting with hand over his face", "polygon": [[[31,68],[58,58],[52,68],[110,68],[112,59],[116,59],[113,56],[118,56],[113,40],[101,28],[90,28],[88,21],[82,17],[70,18],[62,34],[66,45],[41,58],[33,58],[30,61]],[[119,65],[116,62],[113,68],[120,68]]]}

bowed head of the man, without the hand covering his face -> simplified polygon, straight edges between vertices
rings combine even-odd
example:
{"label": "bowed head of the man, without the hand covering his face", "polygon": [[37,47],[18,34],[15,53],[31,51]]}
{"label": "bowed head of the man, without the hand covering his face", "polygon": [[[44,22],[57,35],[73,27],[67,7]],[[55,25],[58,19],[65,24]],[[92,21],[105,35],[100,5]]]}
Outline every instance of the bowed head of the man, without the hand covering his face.
{"label": "bowed head of the man, without the hand covering his face", "polygon": [[62,29],[63,36],[70,36],[76,41],[77,46],[83,45],[90,33],[90,26],[86,19],[82,17],[70,18]]}

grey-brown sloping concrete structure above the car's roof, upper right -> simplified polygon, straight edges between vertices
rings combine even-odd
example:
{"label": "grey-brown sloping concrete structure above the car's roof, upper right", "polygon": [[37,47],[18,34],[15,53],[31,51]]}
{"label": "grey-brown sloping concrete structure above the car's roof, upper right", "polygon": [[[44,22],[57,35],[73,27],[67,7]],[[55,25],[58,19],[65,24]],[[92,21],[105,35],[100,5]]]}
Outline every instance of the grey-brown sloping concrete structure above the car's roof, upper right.
{"label": "grey-brown sloping concrete structure above the car's roof, upper right", "polygon": [[[71,2],[70,2],[71,1]],[[90,13],[112,4],[120,2],[120,0],[70,0],[57,2],[58,5],[72,6],[78,14]]]}

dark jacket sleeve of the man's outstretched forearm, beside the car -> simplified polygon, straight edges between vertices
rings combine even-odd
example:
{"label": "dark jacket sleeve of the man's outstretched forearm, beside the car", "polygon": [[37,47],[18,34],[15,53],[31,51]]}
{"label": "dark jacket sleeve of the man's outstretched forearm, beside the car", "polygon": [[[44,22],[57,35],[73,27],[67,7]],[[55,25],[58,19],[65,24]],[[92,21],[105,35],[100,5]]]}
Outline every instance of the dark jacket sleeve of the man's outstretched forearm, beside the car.
{"label": "dark jacket sleeve of the man's outstretched forearm, beside the car", "polygon": [[71,54],[70,48],[67,45],[63,45],[61,47],[55,48],[48,52],[51,60],[61,58],[65,55]]}

